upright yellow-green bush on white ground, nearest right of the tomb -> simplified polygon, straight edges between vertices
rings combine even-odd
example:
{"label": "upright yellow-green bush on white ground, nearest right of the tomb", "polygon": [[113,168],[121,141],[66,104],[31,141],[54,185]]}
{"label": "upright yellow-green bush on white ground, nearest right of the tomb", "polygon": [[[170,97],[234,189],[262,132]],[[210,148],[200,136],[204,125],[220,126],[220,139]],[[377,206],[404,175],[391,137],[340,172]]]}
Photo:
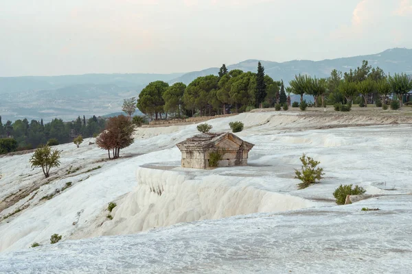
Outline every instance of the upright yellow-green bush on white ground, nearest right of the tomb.
{"label": "upright yellow-green bush on white ground, nearest right of the tomb", "polygon": [[317,167],[321,162],[313,160],[313,158],[306,156],[305,153],[299,159],[302,162],[301,171],[295,169],[295,179],[302,181],[297,185],[299,189],[307,188],[311,184],[315,184],[323,179],[322,175],[325,175],[325,173],[323,173],[322,168]]}

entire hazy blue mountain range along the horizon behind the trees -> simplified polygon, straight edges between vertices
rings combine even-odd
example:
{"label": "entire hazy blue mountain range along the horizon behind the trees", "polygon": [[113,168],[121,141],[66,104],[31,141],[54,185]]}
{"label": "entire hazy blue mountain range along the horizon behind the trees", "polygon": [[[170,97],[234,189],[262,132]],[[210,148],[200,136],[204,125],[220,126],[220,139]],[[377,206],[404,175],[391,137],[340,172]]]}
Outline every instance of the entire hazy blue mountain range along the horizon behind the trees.
{"label": "entire hazy blue mountain range along the horizon behind the trees", "polygon": [[[332,69],[349,71],[367,60],[385,73],[412,74],[412,49],[388,49],[382,53],[333,60],[289,62],[261,61],[267,75],[283,79],[287,85],[295,75],[328,77]],[[227,66],[229,70],[256,71],[258,60]],[[171,74],[86,74],[62,76],[0,77],[0,115],[10,119],[50,121],[55,117],[76,119],[78,115],[104,116],[122,111],[123,99],[138,96],[148,83],[162,80],[169,84],[190,84],[196,77],[214,74],[219,68]]]}

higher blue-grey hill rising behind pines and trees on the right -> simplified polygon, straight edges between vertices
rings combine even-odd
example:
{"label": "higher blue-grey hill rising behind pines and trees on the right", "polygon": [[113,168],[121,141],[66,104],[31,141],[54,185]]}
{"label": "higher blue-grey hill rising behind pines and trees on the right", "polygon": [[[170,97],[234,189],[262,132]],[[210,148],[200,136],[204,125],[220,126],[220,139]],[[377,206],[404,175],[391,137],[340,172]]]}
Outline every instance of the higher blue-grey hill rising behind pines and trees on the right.
{"label": "higher blue-grey hill rising behind pines and trees on the right", "polygon": [[[412,49],[388,49],[382,53],[372,55],[359,55],[350,58],[338,58],[332,60],[309,61],[309,60],[293,60],[288,62],[271,62],[261,61],[265,68],[266,74],[273,79],[283,79],[284,82],[289,82],[295,75],[308,74],[316,75],[317,77],[328,77],[332,69],[339,71],[349,71],[356,69],[362,64],[363,60],[367,60],[372,66],[380,66],[386,73],[408,73],[412,74]],[[256,71],[259,60],[246,60],[239,64],[228,66],[229,70],[241,69],[242,71]],[[217,75],[219,68],[210,68],[203,71],[186,73],[181,77],[173,79],[171,82],[183,82],[189,84],[196,77],[214,74]]]}

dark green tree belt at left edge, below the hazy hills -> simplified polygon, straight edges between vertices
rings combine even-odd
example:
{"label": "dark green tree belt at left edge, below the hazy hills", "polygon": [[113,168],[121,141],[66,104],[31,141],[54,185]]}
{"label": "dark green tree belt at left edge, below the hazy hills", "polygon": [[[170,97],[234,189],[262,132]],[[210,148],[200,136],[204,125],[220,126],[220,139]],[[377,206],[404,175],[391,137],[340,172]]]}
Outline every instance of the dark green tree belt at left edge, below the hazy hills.
{"label": "dark green tree belt at left edge, below the hazy hills", "polygon": [[53,119],[49,123],[27,119],[16,120],[14,123],[7,121],[5,124],[0,116],[0,153],[8,153],[16,150],[34,149],[45,145],[49,140],[59,144],[73,142],[79,135],[84,138],[92,137],[102,132],[106,121],[96,116],[86,119],[84,116],[71,122],[63,122],[62,119]]}

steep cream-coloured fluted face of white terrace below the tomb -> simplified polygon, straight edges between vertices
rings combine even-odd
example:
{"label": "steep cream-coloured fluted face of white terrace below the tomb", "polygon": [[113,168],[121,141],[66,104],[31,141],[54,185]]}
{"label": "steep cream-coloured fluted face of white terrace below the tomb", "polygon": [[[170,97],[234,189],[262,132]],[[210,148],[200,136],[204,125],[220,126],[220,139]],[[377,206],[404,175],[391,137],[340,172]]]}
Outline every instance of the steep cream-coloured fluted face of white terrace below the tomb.
{"label": "steep cream-coloured fluted face of white terrace below the tomb", "polygon": [[139,186],[113,210],[113,221],[104,222],[91,236],[133,234],[182,222],[317,206],[300,197],[262,190],[260,177],[138,169],[137,182]]}

